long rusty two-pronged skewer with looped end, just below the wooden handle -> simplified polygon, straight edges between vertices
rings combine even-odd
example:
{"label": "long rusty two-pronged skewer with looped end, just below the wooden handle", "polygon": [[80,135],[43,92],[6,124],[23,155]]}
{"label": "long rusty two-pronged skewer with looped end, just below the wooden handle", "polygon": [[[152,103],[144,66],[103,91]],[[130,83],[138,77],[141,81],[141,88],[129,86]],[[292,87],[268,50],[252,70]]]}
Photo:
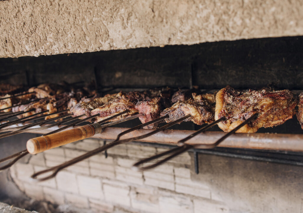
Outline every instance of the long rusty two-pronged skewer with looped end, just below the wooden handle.
{"label": "long rusty two-pronged skewer with looped end, just below the wooden handle", "polygon": [[[160,117],[160,118],[158,118],[158,119],[152,120],[152,121],[147,122],[147,123],[144,123],[144,124],[140,124],[140,125],[138,125],[138,126],[135,126],[135,127],[131,128],[131,129],[128,129],[128,130],[126,130],[126,131],[120,133],[120,134],[117,136],[117,139],[116,139],[115,141],[113,141],[112,143],[108,143],[108,144],[106,144],[106,145],[104,145],[104,146],[102,146],[102,147],[99,147],[99,148],[97,148],[97,149],[94,149],[94,150],[92,150],[92,151],[90,151],[90,152],[85,153],[84,155],[78,156],[78,157],[76,157],[76,158],[74,158],[74,159],[71,159],[71,160],[69,160],[69,161],[67,161],[67,162],[64,162],[64,163],[62,163],[62,164],[60,164],[60,165],[54,166],[54,167],[49,168],[49,169],[42,170],[42,171],[40,171],[40,172],[36,172],[36,173],[34,173],[34,174],[31,176],[31,178],[34,179],[34,180],[36,180],[36,181],[45,181],[45,180],[51,179],[51,178],[55,177],[55,176],[57,175],[57,173],[58,173],[60,170],[66,168],[66,167],[68,167],[68,166],[71,166],[71,165],[73,165],[73,164],[75,164],[75,163],[77,163],[77,162],[80,162],[80,161],[82,161],[82,160],[84,160],[84,159],[87,159],[87,158],[89,158],[89,157],[91,157],[91,156],[94,156],[94,155],[98,154],[99,152],[105,151],[105,150],[107,150],[107,149],[109,149],[109,148],[111,148],[111,147],[113,147],[113,146],[116,146],[116,145],[119,145],[119,144],[122,144],[122,143],[127,143],[127,142],[130,142],[130,141],[135,141],[135,140],[138,140],[138,139],[142,139],[142,138],[151,136],[151,135],[153,135],[153,134],[155,134],[155,133],[158,133],[158,132],[160,132],[160,131],[162,131],[162,130],[164,130],[164,129],[170,127],[170,126],[173,126],[173,125],[175,125],[176,123],[179,123],[179,122],[181,122],[182,120],[185,120],[185,119],[187,119],[187,118],[189,118],[189,117],[190,117],[190,115],[186,115],[186,116],[184,116],[184,117],[182,117],[182,118],[180,118],[180,119],[178,119],[178,120],[176,120],[176,121],[173,121],[173,122],[171,122],[171,123],[168,123],[168,124],[166,124],[166,125],[164,125],[164,126],[158,128],[158,129],[155,129],[154,131],[152,131],[152,132],[150,132],[150,133],[147,133],[147,134],[144,134],[144,135],[142,135],[142,136],[137,136],[137,137],[132,137],[132,138],[128,138],[128,139],[119,140],[120,137],[121,137],[122,135],[125,135],[125,134],[127,134],[127,133],[130,133],[130,132],[132,132],[132,131],[134,131],[134,130],[136,130],[136,129],[140,129],[140,128],[142,128],[143,126],[147,126],[147,125],[149,125],[149,124],[159,122],[159,121],[161,121],[161,120],[163,120],[163,119],[165,119],[165,118],[168,118],[168,115],[162,116],[162,117]],[[44,177],[44,178],[37,179],[37,176],[38,176],[38,175],[44,174],[44,173],[46,173],[46,172],[52,172],[52,174],[51,174],[51,175],[48,175],[48,176],[46,176],[46,177]]]}

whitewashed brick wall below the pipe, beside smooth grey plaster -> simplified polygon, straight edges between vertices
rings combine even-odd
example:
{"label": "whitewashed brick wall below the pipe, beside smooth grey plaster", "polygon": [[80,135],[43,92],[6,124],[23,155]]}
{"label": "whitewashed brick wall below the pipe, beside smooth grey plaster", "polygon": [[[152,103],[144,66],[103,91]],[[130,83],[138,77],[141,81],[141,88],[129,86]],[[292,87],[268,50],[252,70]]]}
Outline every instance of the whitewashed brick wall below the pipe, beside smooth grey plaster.
{"label": "whitewashed brick wall below the pipe, beside smooth grey plaster", "polygon": [[107,158],[98,154],[45,182],[29,179],[34,172],[101,145],[101,140],[85,139],[48,150],[31,156],[27,163],[18,162],[10,169],[10,175],[28,197],[94,212],[228,212],[227,205],[218,196],[212,196],[207,184],[191,180],[192,161],[188,153],[152,170],[131,170],[138,159],[165,151],[139,144],[113,147]]}

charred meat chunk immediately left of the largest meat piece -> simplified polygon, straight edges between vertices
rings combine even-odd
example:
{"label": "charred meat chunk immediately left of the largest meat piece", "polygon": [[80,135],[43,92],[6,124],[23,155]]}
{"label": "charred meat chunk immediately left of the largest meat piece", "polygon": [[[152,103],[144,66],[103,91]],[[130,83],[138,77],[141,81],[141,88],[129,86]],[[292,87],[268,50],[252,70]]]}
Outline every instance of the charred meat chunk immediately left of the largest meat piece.
{"label": "charred meat chunk immediately left of the largest meat piece", "polygon": [[[209,96],[215,95],[205,95],[205,97]],[[195,95],[195,99],[177,101],[177,103],[172,105],[170,108],[163,110],[163,112],[161,112],[161,116],[169,115],[169,117],[165,119],[165,122],[169,123],[190,114],[191,117],[184,121],[192,121],[195,124],[202,125],[214,120],[213,108],[213,103],[208,102],[208,99],[203,96],[197,97]]]}

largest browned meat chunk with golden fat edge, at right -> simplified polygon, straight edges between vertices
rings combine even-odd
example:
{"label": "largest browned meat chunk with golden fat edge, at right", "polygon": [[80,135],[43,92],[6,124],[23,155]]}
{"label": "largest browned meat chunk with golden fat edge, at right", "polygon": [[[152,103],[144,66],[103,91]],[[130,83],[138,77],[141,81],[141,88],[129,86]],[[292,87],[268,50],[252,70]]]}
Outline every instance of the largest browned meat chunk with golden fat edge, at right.
{"label": "largest browned meat chunk with golden fat edge, at right", "polygon": [[244,120],[258,113],[251,123],[241,127],[238,133],[255,133],[261,127],[273,127],[291,119],[297,100],[289,90],[247,90],[231,87],[221,89],[216,95],[215,120],[225,117],[218,126],[229,132]]}

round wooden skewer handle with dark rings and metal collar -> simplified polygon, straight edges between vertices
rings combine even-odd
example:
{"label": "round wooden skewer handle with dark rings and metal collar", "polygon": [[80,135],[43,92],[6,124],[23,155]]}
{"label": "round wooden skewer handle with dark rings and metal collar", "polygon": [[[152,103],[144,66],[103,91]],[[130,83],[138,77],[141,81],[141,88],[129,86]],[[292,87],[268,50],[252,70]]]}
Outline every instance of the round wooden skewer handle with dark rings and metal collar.
{"label": "round wooden skewer handle with dark rings and metal collar", "polygon": [[88,124],[75,129],[29,139],[26,143],[26,149],[31,154],[37,154],[77,140],[89,138],[101,131],[102,126],[99,123]]}

